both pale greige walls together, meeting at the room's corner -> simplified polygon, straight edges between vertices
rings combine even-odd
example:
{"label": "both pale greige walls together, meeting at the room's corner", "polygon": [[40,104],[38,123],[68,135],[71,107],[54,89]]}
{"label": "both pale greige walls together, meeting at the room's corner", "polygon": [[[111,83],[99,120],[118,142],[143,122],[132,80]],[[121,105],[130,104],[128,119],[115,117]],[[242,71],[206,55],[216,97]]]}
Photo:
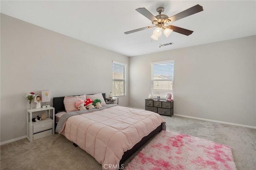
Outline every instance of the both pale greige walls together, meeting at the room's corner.
{"label": "both pale greige walls together, meeting at the room's corner", "polygon": [[28,92],[108,95],[113,60],[128,64],[122,106],[144,108],[150,63],[174,59],[174,114],[256,126],[255,36],[128,58],[4,14],[0,31],[0,142],[26,135]]}

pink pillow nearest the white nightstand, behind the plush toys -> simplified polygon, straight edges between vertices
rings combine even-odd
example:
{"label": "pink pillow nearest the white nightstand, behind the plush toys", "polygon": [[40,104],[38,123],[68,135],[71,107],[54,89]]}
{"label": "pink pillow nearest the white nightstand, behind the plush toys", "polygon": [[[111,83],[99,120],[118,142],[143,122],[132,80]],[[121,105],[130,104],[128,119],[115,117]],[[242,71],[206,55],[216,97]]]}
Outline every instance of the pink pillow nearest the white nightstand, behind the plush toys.
{"label": "pink pillow nearest the white nightstand, behind the plush toys", "polygon": [[64,97],[64,106],[66,112],[72,112],[72,111],[79,111],[78,108],[76,108],[76,102],[78,100],[86,100],[86,95],[81,96],[65,96]]}

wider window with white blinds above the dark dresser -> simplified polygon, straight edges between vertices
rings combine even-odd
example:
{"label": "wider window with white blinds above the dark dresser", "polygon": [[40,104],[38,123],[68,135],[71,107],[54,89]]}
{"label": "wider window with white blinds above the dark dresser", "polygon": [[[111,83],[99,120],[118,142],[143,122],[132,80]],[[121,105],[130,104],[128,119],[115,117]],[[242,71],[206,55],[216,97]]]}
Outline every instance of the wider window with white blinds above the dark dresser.
{"label": "wider window with white blinds above the dark dresser", "polygon": [[151,93],[154,97],[166,99],[167,93],[171,93],[173,98],[173,71],[174,60],[151,63]]}

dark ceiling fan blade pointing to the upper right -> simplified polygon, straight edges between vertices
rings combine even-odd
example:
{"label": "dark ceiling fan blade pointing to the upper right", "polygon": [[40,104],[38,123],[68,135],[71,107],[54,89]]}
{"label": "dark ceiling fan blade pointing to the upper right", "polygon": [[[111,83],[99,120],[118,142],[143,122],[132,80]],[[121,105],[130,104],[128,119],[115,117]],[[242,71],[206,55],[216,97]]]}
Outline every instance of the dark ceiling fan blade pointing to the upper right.
{"label": "dark ceiling fan blade pointing to the upper right", "polygon": [[168,18],[168,20],[171,20],[171,22],[174,22],[174,21],[180,20],[182,18],[185,18],[187,16],[190,16],[190,15],[196,14],[198,12],[201,12],[203,10],[204,10],[203,7],[200,6],[199,4],[197,4],[197,5],[195,5],[191,8],[188,8],[188,9],[186,9],[186,10],[184,10],[184,11],[182,11],[182,12],[180,12],[180,13],[174,15],[174,16],[171,16],[170,18]]}

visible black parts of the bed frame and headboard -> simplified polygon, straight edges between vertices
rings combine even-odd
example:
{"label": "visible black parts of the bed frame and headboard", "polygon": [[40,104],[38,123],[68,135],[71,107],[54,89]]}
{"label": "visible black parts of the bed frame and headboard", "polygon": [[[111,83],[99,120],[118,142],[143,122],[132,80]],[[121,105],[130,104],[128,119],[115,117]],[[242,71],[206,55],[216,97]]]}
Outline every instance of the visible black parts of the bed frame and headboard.
{"label": "visible black parts of the bed frame and headboard", "polygon": [[[106,93],[102,93],[102,96],[104,100],[106,100]],[[53,107],[55,108],[55,113],[59,113],[60,111],[65,111],[64,107],[64,97],[54,97],[53,98]],[[56,119],[55,119],[56,120]],[[57,123],[55,122],[55,129],[56,129]],[[144,136],[140,142],[135,144],[130,150],[127,150],[124,152],[122,159],[120,160],[119,167],[122,167],[121,165],[128,159],[132,154],[134,154],[137,150],[139,150],[146,142],[148,142],[152,137],[154,137],[156,134],[158,134],[162,130],[162,124],[158,126],[155,130],[153,130],[148,136]],[[75,143],[73,143],[74,146],[77,146]]]}

